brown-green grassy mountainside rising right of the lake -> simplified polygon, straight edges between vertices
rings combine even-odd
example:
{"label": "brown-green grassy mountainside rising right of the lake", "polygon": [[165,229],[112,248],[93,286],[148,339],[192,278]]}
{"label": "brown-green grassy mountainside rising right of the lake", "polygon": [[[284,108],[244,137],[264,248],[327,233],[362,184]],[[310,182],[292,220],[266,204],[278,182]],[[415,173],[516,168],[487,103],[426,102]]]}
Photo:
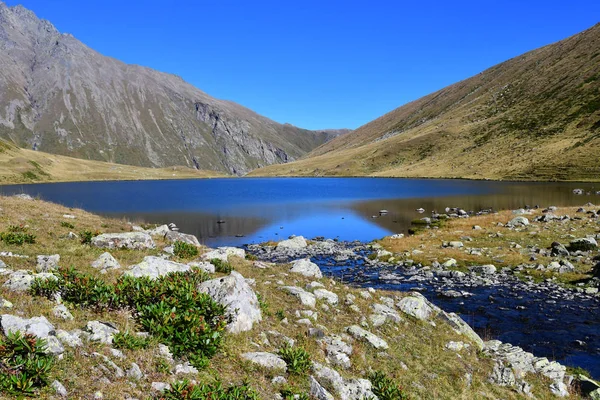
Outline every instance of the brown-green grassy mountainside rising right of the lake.
{"label": "brown-green grassy mountainside rising right of the lake", "polygon": [[255,175],[600,180],[600,24]]}

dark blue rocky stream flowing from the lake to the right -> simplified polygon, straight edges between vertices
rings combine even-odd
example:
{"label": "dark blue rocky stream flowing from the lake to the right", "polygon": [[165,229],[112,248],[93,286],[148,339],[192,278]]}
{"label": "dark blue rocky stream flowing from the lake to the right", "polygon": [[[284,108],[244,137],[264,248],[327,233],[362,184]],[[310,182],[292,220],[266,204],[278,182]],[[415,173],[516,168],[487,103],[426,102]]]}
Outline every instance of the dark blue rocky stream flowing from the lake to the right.
{"label": "dark blue rocky stream flowing from the lake to the right", "polygon": [[373,257],[381,254],[378,247],[296,237],[247,251],[270,262],[309,258],[324,275],[358,286],[419,291],[459,314],[484,340],[499,339],[600,378],[600,297],[594,288],[522,279],[518,268],[487,265],[465,273],[439,263],[383,262]]}

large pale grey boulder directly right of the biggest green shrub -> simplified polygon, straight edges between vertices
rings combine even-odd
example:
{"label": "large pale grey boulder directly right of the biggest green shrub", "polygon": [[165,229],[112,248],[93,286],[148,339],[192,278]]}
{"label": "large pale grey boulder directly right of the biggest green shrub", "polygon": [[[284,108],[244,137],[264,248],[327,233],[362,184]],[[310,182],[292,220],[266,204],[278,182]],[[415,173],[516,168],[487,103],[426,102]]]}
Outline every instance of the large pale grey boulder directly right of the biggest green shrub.
{"label": "large pale grey boulder directly right of the biggest green shrub", "polygon": [[224,278],[202,282],[198,285],[198,290],[227,307],[227,315],[232,318],[227,330],[231,333],[249,331],[255,322],[262,320],[256,293],[236,271]]}

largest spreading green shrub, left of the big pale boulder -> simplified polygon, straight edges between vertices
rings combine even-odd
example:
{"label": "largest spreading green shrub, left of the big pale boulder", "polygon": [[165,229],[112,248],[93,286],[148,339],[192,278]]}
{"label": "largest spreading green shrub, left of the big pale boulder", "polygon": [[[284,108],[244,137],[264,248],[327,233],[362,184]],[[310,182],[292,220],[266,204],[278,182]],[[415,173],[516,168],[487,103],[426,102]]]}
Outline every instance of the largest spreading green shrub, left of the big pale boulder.
{"label": "largest spreading green shrub, left of the big pale boulder", "polygon": [[[205,367],[221,346],[229,320],[224,306],[198,291],[208,279],[199,269],[154,280],[123,276],[114,285],[72,268],[61,268],[57,275],[54,282],[35,280],[31,293],[48,298],[60,293],[66,302],[100,311],[129,309],[146,332],[196,368]],[[119,340],[123,346],[138,345],[127,335]]]}

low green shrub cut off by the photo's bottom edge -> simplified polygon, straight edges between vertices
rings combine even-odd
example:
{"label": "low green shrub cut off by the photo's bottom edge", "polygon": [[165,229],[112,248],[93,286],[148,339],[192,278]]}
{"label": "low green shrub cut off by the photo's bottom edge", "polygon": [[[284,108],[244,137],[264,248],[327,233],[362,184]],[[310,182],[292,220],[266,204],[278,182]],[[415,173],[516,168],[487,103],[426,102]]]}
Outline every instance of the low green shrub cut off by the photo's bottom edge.
{"label": "low green shrub cut off by the photo's bottom edge", "polygon": [[221,382],[195,385],[183,380],[171,384],[171,388],[158,396],[165,400],[258,400],[258,394],[247,383],[223,387]]}

